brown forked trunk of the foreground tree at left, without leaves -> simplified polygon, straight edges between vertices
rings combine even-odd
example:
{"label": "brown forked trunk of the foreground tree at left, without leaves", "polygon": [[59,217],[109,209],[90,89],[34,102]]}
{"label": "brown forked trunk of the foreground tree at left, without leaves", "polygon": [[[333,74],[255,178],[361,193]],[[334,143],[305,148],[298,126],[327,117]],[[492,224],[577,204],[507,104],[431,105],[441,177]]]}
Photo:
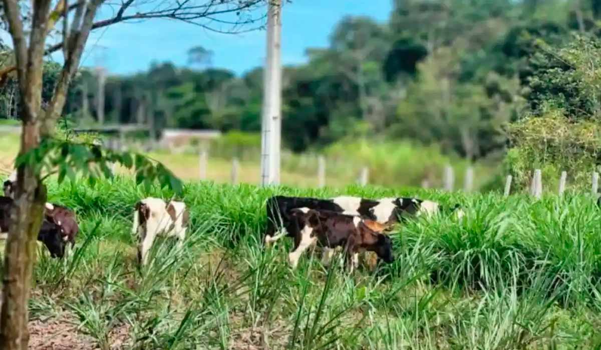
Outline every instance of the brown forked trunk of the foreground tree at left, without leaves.
{"label": "brown forked trunk of the foreground tree at left, without leaves", "polygon": [[[43,73],[44,44],[47,28],[59,16],[49,16],[50,0],[32,1],[33,16],[29,41],[26,40],[23,22],[16,0],[2,0],[13,38],[19,82],[22,118],[21,145],[19,154],[31,151],[40,145],[40,138],[53,132],[56,119],[63,110],[67,88],[79,65],[79,58],[90,32],[96,8],[101,0],[93,0],[87,6],[84,20],[74,17],[75,25],[67,43],[67,55],[63,70],[56,83],[52,101],[46,110],[41,110],[41,88]],[[64,1],[59,4],[64,4]],[[62,13],[60,5],[56,8]],[[85,2],[79,3],[78,13],[83,13]],[[29,45],[28,45],[29,43]],[[40,183],[39,174],[31,164],[17,169],[17,189],[11,224],[8,232],[4,258],[4,285],[2,286],[2,310],[0,311],[0,350],[28,349],[28,300],[31,291],[31,272],[35,261],[37,234],[46,202],[46,188]]]}

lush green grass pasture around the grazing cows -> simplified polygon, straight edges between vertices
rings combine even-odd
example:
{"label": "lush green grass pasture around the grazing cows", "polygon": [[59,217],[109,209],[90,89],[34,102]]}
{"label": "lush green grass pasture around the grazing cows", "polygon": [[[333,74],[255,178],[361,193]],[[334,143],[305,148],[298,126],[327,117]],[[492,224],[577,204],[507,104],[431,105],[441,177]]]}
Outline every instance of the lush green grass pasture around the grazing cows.
{"label": "lush green grass pasture around the grazing cows", "polygon": [[[159,240],[136,267],[132,207],[150,193],[115,178],[49,182],[78,214],[63,261],[44,250],[29,310],[32,349],[573,349],[601,345],[601,225],[587,196],[419,189],[261,188],[186,183],[191,230]],[[395,262],[353,276],[319,255],[288,266],[290,240],[261,244],[273,194],[418,196],[466,217],[416,219],[392,232]],[[47,347],[46,347],[47,346]]]}

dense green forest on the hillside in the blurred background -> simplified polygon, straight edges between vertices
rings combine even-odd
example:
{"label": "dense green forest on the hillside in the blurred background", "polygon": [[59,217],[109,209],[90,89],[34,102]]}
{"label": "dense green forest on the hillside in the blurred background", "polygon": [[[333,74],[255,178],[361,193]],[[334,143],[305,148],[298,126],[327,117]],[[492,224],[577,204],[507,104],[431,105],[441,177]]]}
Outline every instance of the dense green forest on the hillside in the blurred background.
{"label": "dense green forest on the hillside in the blurred background", "polygon": [[[509,145],[511,171],[524,173],[584,150],[588,161],[578,161],[590,166],[599,143],[587,130],[600,113],[600,20],[601,0],[394,0],[386,23],[346,17],[329,47],[284,68],[282,140],[305,151],[377,135],[436,143],[469,160],[500,159]],[[210,66],[210,47],[188,54],[185,68],[163,62],[108,77],[106,122],[259,131],[261,68],[237,77]],[[48,62],[48,92],[56,71]],[[80,123],[96,118],[94,74],[82,71],[69,92],[65,114]],[[16,93],[14,83],[4,85],[0,118],[16,118]],[[538,159],[545,128],[564,130],[573,143]]]}

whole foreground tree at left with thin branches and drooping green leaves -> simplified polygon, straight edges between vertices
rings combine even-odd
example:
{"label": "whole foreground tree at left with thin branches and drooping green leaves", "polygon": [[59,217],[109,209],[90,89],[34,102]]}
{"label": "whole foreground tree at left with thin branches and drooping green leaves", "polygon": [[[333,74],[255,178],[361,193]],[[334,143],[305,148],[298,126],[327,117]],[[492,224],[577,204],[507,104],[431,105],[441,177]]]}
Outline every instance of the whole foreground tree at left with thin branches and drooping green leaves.
{"label": "whole foreground tree at left with thin branches and drooping green leaves", "polygon": [[[96,145],[75,145],[69,140],[57,140],[53,137],[56,121],[66,101],[67,89],[78,68],[90,31],[126,20],[169,18],[213,31],[231,32],[239,30],[239,25],[258,24],[258,19],[238,16],[237,19],[228,21],[217,19],[217,16],[241,14],[242,11],[263,5],[262,0],[161,1],[150,7],[146,6],[148,2],[144,2],[143,7],[133,10],[134,2],[135,0],[126,0],[114,16],[94,22],[103,0],[79,0],[70,5],[66,0],[59,0],[52,10],[50,0],[34,0],[31,2],[31,11],[23,6],[23,2],[2,0],[2,17],[8,23],[13,40],[15,64],[0,71],[0,81],[4,81],[11,72],[16,74],[22,133],[16,161],[15,204],[11,212],[4,262],[0,349],[28,348],[27,302],[35,260],[35,240],[46,202],[46,188],[42,183],[44,170],[48,173],[58,171],[59,181],[62,181],[66,176],[75,177],[74,169],[81,169],[93,183],[94,175],[111,174],[106,162],[121,161],[128,167],[135,166],[138,183],[144,182],[150,186],[149,181],[157,178],[174,191],[180,187],[178,180],[161,164],[153,164],[140,155],[132,159],[129,154],[102,152]],[[149,10],[138,12],[140,8]],[[63,23],[62,41],[45,49],[49,33],[57,22]],[[233,26],[230,28],[234,29],[225,30],[224,25]],[[44,55],[59,49],[63,49],[64,64],[58,74],[52,98],[42,108]]]}

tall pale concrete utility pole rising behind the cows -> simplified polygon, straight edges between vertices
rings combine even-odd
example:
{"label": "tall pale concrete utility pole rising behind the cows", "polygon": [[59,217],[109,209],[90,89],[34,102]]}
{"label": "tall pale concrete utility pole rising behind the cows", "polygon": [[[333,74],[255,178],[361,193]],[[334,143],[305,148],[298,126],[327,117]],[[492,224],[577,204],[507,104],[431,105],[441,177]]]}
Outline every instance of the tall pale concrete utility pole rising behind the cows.
{"label": "tall pale concrete utility pole rising behind the cows", "polygon": [[267,10],[267,57],[263,70],[263,115],[261,118],[262,186],[279,184],[279,150],[282,122],[281,14],[281,0],[269,0]]}

